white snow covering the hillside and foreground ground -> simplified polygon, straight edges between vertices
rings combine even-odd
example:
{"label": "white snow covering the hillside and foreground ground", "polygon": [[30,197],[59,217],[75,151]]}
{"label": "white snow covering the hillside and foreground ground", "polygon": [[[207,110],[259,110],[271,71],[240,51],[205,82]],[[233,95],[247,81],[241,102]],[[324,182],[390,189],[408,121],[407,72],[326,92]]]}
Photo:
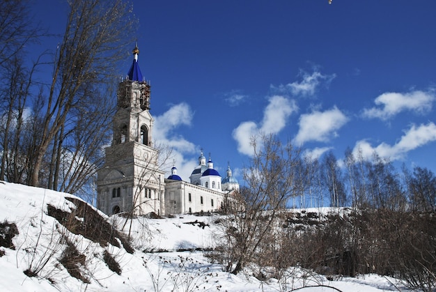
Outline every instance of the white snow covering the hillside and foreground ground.
{"label": "white snow covering the hillside and foreground ground", "polygon": [[[13,238],[15,249],[0,247],[0,252],[4,252],[0,256],[0,291],[230,292],[290,291],[306,286],[299,291],[375,292],[397,291],[398,285],[404,289],[396,279],[378,275],[329,281],[322,275],[294,268],[286,283],[279,283],[275,279],[260,282],[244,272],[238,275],[223,272],[221,266],[210,263],[203,252],[198,251],[214,247],[217,217],[213,216],[141,217],[134,220],[132,226],[127,222],[124,233],[130,230],[135,247],[135,252],[129,254],[123,247],[110,244],[105,247],[70,233],[54,217],[47,215],[47,204],[68,212],[75,209],[75,204],[65,197],[75,198],[38,187],[0,182],[0,223],[14,222],[19,231]],[[125,223],[123,217],[100,214],[119,229]],[[77,217],[77,220],[83,218]],[[204,228],[201,223],[205,224]],[[65,238],[86,256],[86,268],[82,266],[80,270],[90,283],[71,277],[59,262],[66,247]],[[120,275],[104,263],[105,250],[118,262],[122,270]],[[38,270],[38,277],[24,275],[29,268]]]}

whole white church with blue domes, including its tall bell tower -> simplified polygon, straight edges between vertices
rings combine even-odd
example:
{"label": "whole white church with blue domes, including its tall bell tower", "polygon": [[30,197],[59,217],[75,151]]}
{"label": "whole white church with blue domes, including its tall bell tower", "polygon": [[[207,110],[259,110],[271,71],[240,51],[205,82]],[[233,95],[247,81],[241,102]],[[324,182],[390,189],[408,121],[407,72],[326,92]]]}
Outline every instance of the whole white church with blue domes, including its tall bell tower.
{"label": "whole white church with blue domes, including its tall bell tower", "polygon": [[111,146],[104,149],[104,165],[98,170],[97,208],[107,215],[133,212],[157,215],[215,212],[224,208],[239,183],[230,165],[222,178],[201,151],[189,182],[176,166],[165,178],[159,169],[159,151],[153,148],[153,116],[150,114],[150,84],[138,64],[139,49],[127,77],[118,84]]}

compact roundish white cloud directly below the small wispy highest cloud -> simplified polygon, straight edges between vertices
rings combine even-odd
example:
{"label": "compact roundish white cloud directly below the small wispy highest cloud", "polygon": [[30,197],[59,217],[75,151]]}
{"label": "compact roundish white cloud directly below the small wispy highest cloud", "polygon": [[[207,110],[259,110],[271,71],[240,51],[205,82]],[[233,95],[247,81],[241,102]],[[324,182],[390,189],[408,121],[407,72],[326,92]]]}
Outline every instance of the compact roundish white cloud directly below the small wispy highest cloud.
{"label": "compact roundish white cloud directly below the small wispy highest cloud", "polygon": [[313,111],[311,114],[302,114],[294,141],[298,145],[307,141],[329,141],[332,137],[338,136],[336,131],[347,122],[347,116],[337,107],[325,112]]}

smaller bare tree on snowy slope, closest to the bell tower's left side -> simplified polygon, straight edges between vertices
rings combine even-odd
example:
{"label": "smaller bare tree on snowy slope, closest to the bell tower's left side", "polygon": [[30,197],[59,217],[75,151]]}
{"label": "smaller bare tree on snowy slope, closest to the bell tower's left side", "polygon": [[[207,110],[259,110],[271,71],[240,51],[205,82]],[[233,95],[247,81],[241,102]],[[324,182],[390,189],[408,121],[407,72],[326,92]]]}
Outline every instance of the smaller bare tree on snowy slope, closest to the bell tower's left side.
{"label": "smaller bare tree on snowy slope, closest to the bell tower's left side", "polygon": [[[72,109],[66,126],[61,127],[47,152],[48,186],[54,190],[84,193],[84,185],[102,167],[102,146],[111,141],[114,91],[92,90]],[[68,130],[65,130],[68,129]],[[93,182],[92,182],[93,183]]]}

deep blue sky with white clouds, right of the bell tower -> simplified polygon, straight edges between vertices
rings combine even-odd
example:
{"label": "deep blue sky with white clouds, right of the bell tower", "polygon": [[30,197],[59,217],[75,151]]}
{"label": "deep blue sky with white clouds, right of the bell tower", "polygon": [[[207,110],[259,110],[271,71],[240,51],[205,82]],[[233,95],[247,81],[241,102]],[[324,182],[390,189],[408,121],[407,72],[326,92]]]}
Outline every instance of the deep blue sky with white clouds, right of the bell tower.
{"label": "deep blue sky with white clouds, right of the bell tower", "polygon": [[[47,2],[45,13],[59,11],[59,1]],[[436,1],[134,0],[133,7],[153,135],[174,147],[183,180],[201,148],[221,176],[230,162],[241,179],[249,137],[259,130],[313,157],[332,150],[341,159],[347,147],[360,148],[398,170],[404,162],[436,172]]]}

